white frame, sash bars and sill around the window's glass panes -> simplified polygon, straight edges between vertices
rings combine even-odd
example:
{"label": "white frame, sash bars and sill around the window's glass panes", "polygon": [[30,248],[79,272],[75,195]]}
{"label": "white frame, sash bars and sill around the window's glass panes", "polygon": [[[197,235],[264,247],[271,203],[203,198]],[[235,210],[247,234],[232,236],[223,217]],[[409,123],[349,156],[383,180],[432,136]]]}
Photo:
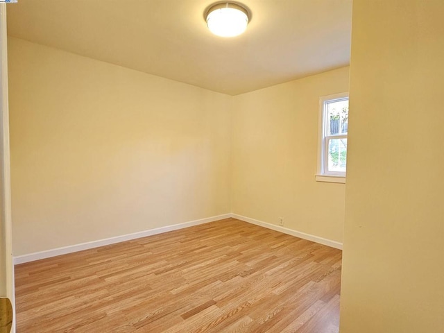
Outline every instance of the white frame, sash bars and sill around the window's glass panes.
{"label": "white frame, sash bars and sill around the window's glass panes", "polygon": [[347,135],[327,135],[327,117],[325,117],[327,103],[334,101],[344,101],[348,99],[348,92],[332,94],[319,97],[319,120],[318,120],[318,170],[316,181],[318,182],[339,182],[345,184],[345,172],[327,171],[326,163],[328,159],[327,144],[331,139],[344,139]]}

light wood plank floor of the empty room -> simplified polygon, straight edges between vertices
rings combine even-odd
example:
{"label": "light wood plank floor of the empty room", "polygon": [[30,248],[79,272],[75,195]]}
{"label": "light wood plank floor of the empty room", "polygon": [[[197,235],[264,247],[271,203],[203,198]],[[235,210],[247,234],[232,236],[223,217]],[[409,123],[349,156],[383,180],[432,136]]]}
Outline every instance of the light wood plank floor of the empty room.
{"label": "light wood plank floor of the empty room", "polygon": [[338,332],[341,251],[226,219],[16,266],[17,332]]}

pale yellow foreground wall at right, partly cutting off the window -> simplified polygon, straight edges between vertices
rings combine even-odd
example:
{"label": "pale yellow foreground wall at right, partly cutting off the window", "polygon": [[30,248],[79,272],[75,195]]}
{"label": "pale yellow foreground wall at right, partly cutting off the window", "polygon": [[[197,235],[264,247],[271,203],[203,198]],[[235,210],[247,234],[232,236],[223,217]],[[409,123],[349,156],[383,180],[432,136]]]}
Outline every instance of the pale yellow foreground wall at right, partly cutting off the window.
{"label": "pale yellow foreground wall at right, partly cutting off the window", "polygon": [[353,1],[341,333],[444,329],[443,17]]}

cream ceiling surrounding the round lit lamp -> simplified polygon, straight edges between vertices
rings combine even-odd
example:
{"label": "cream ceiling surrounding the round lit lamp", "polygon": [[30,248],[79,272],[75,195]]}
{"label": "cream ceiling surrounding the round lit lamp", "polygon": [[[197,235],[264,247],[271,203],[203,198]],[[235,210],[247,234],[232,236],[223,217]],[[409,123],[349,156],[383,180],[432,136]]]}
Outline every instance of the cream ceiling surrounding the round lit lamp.
{"label": "cream ceiling surrounding the round lit lamp", "polygon": [[352,0],[243,0],[230,39],[208,31],[213,0],[19,0],[8,35],[225,94],[348,65]]}

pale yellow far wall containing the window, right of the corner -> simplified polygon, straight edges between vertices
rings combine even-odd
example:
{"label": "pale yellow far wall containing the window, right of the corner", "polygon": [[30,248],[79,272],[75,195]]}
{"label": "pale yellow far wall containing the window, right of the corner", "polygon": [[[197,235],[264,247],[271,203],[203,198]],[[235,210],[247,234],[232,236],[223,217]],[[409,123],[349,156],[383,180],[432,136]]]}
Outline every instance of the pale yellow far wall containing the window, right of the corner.
{"label": "pale yellow far wall containing the window, right of the corner", "polygon": [[348,67],[234,97],[232,212],[342,241],[345,185],[316,182],[319,96],[348,91]]}

